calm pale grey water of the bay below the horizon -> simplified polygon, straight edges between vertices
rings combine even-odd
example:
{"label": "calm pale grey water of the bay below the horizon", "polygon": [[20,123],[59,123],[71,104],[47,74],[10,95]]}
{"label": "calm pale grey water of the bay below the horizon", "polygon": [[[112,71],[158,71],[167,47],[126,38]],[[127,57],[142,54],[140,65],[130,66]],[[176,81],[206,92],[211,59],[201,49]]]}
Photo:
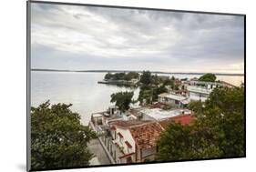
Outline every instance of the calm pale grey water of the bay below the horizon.
{"label": "calm pale grey water of the bay below the horizon", "polygon": [[[51,103],[72,103],[71,109],[82,116],[82,123],[87,125],[90,115],[104,111],[110,103],[110,95],[119,91],[134,91],[138,98],[139,89],[122,86],[97,84],[105,73],[76,72],[31,72],[31,104],[38,106],[46,100]],[[199,77],[198,75],[174,75],[175,77]],[[243,76],[218,76],[233,85],[240,86]]]}

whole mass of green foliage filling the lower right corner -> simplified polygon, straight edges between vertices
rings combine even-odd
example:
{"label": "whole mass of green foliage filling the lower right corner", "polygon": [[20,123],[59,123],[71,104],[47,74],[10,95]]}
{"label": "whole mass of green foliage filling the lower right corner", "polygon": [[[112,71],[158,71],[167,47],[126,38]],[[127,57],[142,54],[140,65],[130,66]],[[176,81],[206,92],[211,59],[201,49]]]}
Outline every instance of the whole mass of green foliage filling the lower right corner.
{"label": "whole mass of green foliage filling the lower right corner", "polygon": [[192,102],[189,126],[170,122],[161,134],[157,160],[244,157],[244,88],[215,88],[203,103]]}

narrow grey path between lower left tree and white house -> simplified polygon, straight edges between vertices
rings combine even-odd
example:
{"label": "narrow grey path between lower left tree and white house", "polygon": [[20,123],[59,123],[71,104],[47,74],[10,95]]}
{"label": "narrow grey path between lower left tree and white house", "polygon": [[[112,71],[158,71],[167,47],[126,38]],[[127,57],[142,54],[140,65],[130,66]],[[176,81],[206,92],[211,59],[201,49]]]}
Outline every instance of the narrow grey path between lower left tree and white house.
{"label": "narrow grey path between lower left tree and white house", "polygon": [[90,165],[108,165],[111,162],[108,159],[108,156],[100,145],[98,139],[93,139],[88,144],[88,149],[91,153],[93,153],[96,157],[90,160]]}

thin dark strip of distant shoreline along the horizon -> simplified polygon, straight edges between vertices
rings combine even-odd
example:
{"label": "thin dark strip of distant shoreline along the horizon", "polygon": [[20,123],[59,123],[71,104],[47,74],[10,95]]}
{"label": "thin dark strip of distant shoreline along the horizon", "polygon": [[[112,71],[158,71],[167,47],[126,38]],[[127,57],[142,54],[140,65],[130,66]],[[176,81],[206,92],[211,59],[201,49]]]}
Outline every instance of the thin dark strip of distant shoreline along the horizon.
{"label": "thin dark strip of distant shoreline along the horizon", "polygon": [[[41,71],[41,72],[85,72],[85,73],[120,73],[120,72],[138,72],[143,71],[136,70],[57,70],[57,69],[41,69],[32,68],[31,71]],[[195,72],[161,72],[161,71],[150,71],[153,74],[173,74],[173,75],[204,75],[206,73],[195,73]],[[213,73],[216,76],[244,76],[244,74],[223,74],[223,73]]]}

